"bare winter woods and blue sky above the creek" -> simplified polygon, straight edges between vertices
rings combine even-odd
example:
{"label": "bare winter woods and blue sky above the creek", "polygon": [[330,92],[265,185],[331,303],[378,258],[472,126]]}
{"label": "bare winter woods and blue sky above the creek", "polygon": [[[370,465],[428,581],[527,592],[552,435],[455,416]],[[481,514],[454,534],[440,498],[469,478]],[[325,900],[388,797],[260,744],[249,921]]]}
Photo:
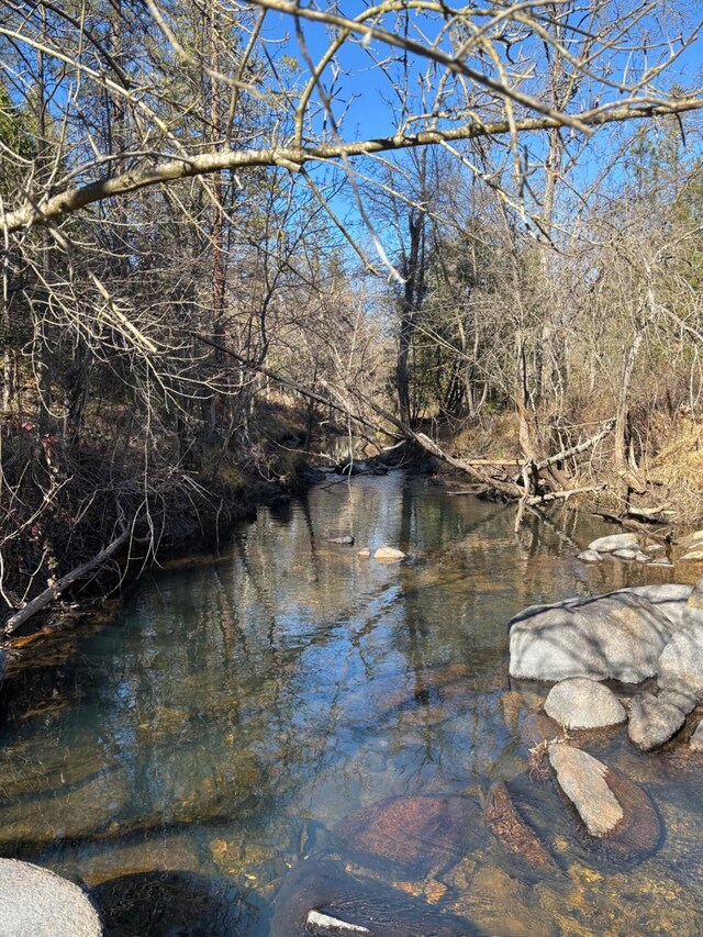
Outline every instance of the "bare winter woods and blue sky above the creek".
{"label": "bare winter woods and blue sky above the creek", "polygon": [[346,438],[703,516],[694,8],[5,3],[5,632]]}

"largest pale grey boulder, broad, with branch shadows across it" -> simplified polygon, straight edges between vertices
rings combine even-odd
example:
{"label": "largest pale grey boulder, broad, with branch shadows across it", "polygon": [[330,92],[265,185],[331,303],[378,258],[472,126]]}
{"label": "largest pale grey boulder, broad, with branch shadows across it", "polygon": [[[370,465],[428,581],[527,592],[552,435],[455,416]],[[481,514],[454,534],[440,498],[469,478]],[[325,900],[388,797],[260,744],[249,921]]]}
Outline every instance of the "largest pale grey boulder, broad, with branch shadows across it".
{"label": "largest pale grey boulder, broad, with branch shadows across it", "polygon": [[639,683],[657,672],[673,625],[644,595],[621,590],[596,599],[532,606],[516,615],[509,628],[512,677]]}

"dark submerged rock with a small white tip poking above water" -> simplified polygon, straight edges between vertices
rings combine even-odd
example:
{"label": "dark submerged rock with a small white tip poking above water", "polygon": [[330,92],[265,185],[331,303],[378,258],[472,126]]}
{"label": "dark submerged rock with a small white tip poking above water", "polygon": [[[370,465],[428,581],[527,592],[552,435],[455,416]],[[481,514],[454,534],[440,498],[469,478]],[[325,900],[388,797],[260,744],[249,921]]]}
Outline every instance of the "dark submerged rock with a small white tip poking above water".
{"label": "dark submerged rock with a small white tip poking above water", "polygon": [[[442,914],[378,882],[357,879],[321,859],[308,859],[292,870],[274,907],[271,937],[309,937],[311,933],[319,937],[469,937],[477,933],[460,917]],[[316,912],[312,916],[316,929],[309,926],[311,912]],[[333,922],[346,929],[334,929]]]}

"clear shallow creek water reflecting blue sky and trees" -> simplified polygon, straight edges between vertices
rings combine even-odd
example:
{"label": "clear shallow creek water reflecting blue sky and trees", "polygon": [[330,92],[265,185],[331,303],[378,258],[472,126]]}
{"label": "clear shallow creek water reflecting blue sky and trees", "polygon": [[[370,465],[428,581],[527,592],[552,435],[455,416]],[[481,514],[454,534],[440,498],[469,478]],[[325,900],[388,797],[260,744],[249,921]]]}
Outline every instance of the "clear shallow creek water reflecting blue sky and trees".
{"label": "clear shallow creek water reflecting blue sky and trees", "polygon": [[[334,479],[260,511],[224,555],[145,581],[116,623],[87,624],[11,680],[2,855],[99,886],[109,906],[129,905],[111,880],[196,873],[161,877],[148,894],[205,885],[210,904],[230,908],[228,923],[197,932],[138,923],[136,906],[133,932],[114,933],[264,937],[271,900],[310,856],[392,884],[411,913],[421,902],[460,915],[466,933],[703,933],[703,761],[676,746],[640,755],[624,729],[584,744],[645,788],[666,827],[654,856],[618,862],[531,770],[521,729],[546,689],[507,678],[506,622],[525,605],[671,570],[578,562],[574,542],[612,532],[587,516],[528,517],[518,536],[513,523],[514,507],[400,473]],[[327,543],[347,533],[355,547]],[[383,543],[411,560],[357,556]],[[394,795],[482,804],[495,780],[510,783],[554,872],[488,836],[451,868],[403,881],[355,865],[333,833]]]}

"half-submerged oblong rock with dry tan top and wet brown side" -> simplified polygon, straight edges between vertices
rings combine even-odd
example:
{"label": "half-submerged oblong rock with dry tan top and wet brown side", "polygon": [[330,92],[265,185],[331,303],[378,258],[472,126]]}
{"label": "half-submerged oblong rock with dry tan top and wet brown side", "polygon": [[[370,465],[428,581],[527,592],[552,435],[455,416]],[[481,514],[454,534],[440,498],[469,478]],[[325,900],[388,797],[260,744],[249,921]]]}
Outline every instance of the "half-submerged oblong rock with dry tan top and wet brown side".
{"label": "half-submerged oblong rock with dry tan top and wet brown side", "polygon": [[641,861],[654,852],[662,827],[649,796],[607,765],[569,745],[549,747],[559,787],[605,855]]}

